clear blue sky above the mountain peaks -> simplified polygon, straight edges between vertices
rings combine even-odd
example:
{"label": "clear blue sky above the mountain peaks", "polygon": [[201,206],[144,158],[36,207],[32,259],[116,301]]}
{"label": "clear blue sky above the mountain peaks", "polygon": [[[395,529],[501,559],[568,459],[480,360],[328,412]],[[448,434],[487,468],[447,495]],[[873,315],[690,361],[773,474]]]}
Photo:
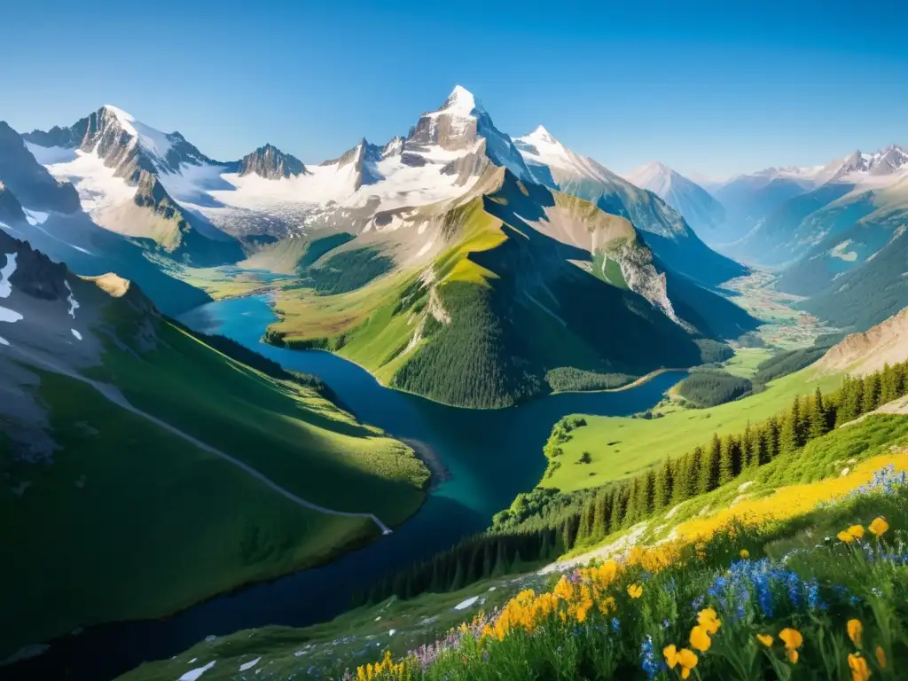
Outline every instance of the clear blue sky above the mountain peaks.
{"label": "clear blue sky above the mountain peaks", "polygon": [[46,128],[116,104],[219,159],[380,143],[455,84],[505,132],[543,123],[617,172],[908,143],[905,0],[8,0],[0,19],[0,119]]}

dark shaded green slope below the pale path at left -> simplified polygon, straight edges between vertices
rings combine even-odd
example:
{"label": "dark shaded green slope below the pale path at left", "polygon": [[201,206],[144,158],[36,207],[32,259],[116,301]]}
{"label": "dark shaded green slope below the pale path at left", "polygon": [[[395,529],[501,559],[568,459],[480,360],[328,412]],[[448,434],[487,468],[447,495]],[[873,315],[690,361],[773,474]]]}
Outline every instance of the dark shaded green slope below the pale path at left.
{"label": "dark shaded green slope below the pale path at left", "polygon": [[40,390],[63,449],[49,467],[5,466],[31,485],[21,498],[0,486],[0,603],[16,623],[0,657],[78,626],[162,617],[375,532],[291,503],[84,383],[44,373]]}

